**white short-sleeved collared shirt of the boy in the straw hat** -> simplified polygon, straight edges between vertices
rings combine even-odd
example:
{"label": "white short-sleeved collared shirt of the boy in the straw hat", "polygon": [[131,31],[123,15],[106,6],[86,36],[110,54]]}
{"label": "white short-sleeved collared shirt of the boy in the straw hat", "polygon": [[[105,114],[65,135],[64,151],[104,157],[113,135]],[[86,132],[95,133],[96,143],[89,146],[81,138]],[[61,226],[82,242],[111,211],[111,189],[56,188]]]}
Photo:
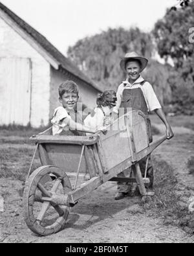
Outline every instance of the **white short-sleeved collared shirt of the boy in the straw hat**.
{"label": "white short-sleeved collared shirt of the boy in the straw hat", "polygon": [[153,111],[158,108],[162,108],[160,105],[160,102],[158,101],[158,98],[155,95],[155,91],[153,90],[153,87],[151,86],[151,84],[149,84],[149,82],[146,81],[143,85],[141,85],[140,83],[143,81],[144,81],[144,78],[142,78],[142,76],[140,75],[140,77],[133,84],[130,84],[128,80],[125,80],[124,82],[122,82],[122,84],[120,84],[116,93],[117,102],[116,102],[116,106],[113,109],[114,112],[118,113],[120,104],[122,102],[122,95],[123,95],[124,89],[135,89],[135,88],[142,89],[144,98],[146,100],[148,111]]}

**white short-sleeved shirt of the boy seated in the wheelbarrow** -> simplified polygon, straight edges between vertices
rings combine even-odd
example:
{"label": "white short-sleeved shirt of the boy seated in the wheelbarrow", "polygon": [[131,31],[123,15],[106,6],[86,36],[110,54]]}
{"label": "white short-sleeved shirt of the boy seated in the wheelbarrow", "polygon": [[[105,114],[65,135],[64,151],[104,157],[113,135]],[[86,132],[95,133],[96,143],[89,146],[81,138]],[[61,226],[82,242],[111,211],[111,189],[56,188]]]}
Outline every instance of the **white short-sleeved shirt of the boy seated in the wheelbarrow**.
{"label": "white short-sleeved shirt of the boy seated in the wheelbarrow", "polygon": [[54,114],[52,117],[52,135],[59,135],[65,126],[68,126],[65,124],[64,119],[71,119],[69,113],[67,113],[67,110],[63,107],[58,107],[54,110]]}

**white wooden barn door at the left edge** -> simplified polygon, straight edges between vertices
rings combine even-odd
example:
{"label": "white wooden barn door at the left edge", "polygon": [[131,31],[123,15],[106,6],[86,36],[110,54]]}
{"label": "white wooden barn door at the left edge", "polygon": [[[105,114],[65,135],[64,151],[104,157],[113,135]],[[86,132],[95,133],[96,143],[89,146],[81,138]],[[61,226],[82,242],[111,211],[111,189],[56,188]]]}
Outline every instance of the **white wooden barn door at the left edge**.
{"label": "white wooden barn door at the left edge", "polygon": [[0,125],[30,122],[31,62],[0,58]]}

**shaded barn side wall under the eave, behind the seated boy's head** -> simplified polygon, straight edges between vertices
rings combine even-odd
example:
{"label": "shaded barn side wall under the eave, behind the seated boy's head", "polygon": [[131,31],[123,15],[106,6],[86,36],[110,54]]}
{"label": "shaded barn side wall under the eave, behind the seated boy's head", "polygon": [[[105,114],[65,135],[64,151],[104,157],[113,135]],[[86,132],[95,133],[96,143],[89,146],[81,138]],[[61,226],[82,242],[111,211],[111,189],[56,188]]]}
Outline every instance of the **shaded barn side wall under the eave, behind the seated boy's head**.
{"label": "shaded barn side wall under the eave, behind the seated boy's head", "polygon": [[80,101],[83,102],[88,108],[94,108],[96,106],[96,96],[98,91],[87,83],[76,78],[72,74],[65,71],[56,71],[53,67],[50,67],[50,118],[54,112],[54,109],[60,106],[58,96],[58,86],[65,80],[73,80],[78,84]]}

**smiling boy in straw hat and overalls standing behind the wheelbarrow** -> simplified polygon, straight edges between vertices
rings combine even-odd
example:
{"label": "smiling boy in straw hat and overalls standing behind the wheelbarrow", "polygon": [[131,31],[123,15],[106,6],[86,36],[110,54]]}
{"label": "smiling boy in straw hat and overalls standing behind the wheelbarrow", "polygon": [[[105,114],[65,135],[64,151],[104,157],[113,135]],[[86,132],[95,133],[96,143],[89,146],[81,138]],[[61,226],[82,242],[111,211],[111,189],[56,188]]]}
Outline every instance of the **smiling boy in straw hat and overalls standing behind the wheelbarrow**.
{"label": "smiling boy in straw hat and overalls standing behind the wheelbarrow", "polygon": [[[171,126],[166,119],[166,115],[162,110],[162,107],[155,95],[153,87],[149,82],[144,80],[140,75],[142,71],[146,68],[148,60],[142,56],[139,56],[136,52],[128,52],[125,57],[120,61],[121,69],[127,73],[127,80],[122,82],[118,87],[116,93],[117,103],[114,108],[114,112],[118,114],[121,108],[124,108],[124,113],[127,110],[141,110],[146,115],[147,120],[147,132],[149,136],[149,143],[152,141],[151,135],[151,124],[149,121],[149,111],[155,111],[156,115],[160,117],[162,122],[166,126],[166,136],[167,139],[173,137],[173,131]],[[140,169],[143,172],[146,169],[146,159],[140,161]],[[129,170],[119,174],[120,177],[129,175]],[[147,162],[147,178],[150,180],[149,189],[153,188],[153,166],[151,159]],[[118,192],[116,193],[115,199],[119,200],[127,196],[131,190],[131,185],[127,183],[118,182]]]}

